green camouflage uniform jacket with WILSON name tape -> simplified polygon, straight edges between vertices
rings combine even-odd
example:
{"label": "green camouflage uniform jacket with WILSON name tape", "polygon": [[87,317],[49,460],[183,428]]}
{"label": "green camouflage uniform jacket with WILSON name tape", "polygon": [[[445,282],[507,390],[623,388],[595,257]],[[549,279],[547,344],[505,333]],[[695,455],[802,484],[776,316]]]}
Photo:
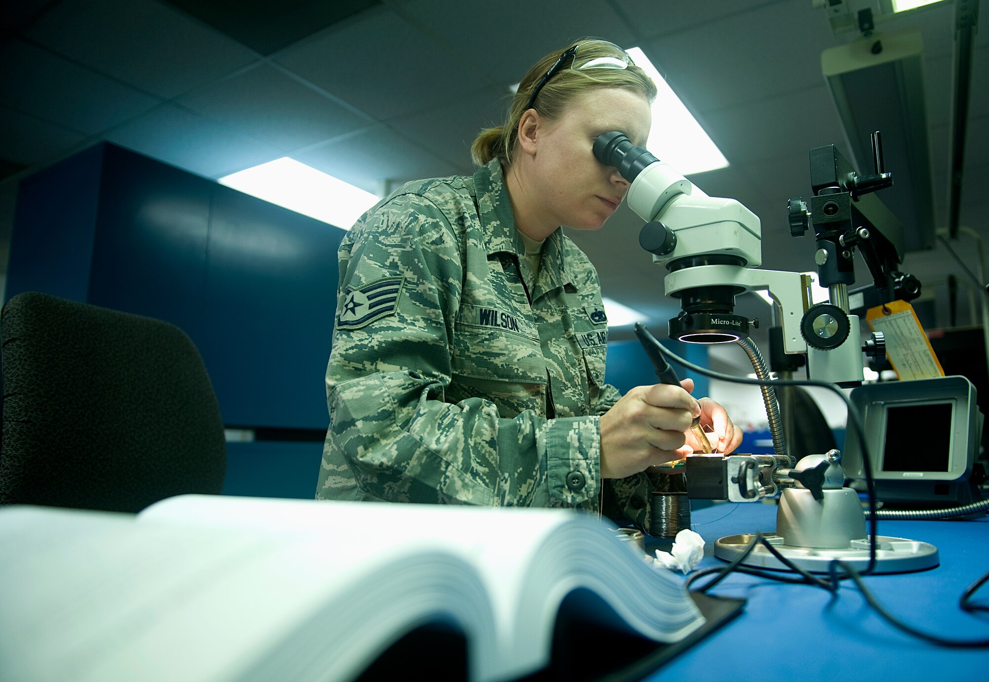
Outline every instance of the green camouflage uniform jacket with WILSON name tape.
{"label": "green camouflage uniform jacket with WILSON name tape", "polygon": [[647,523],[600,477],[607,319],[562,229],[538,277],[495,159],[406,184],[340,244],[321,499],[580,507]]}

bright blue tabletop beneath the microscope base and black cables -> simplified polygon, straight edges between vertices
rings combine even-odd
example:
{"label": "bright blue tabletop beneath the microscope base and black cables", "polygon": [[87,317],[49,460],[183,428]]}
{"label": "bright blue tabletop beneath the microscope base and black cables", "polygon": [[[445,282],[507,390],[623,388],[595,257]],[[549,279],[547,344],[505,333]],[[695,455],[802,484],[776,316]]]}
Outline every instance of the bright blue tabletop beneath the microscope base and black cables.
{"label": "bright blue tabletop beneath the microscope base and black cables", "polygon": [[[776,506],[718,504],[695,509],[691,528],[704,538],[698,568],[724,565],[721,537],[775,529]],[[989,518],[977,521],[880,521],[878,534],[935,545],[941,565],[914,573],[871,575],[866,587],[909,625],[951,639],[989,639],[989,614],[968,614],[958,598],[989,570]],[[647,543],[647,550],[660,547]],[[662,549],[662,547],[661,547]],[[700,583],[709,578],[701,578]],[[910,637],[882,620],[851,580],[837,596],[733,574],[710,594],[748,599],[745,611],[676,657],[649,680],[989,680],[989,649],[944,648]],[[974,603],[989,606],[989,584]]]}

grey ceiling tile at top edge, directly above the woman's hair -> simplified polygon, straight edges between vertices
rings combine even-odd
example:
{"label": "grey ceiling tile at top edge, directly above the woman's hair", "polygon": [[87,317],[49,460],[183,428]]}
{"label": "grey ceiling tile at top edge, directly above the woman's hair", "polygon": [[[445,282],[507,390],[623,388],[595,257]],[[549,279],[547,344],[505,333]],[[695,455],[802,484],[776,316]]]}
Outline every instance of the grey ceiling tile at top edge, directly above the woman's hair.
{"label": "grey ceiling tile at top edge, directly above the woman's hair", "polygon": [[595,36],[624,47],[636,42],[625,22],[600,0],[410,0],[402,9],[474,60],[498,85],[517,83],[543,55],[578,38]]}

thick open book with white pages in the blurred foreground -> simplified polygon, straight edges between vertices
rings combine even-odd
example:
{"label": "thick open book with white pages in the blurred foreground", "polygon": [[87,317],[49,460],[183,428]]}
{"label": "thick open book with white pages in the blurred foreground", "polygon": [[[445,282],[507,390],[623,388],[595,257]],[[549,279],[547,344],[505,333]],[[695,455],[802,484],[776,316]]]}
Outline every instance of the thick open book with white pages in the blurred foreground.
{"label": "thick open book with white pages in the blurred foreground", "polygon": [[2,509],[0,548],[0,679],[25,682],[351,680],[409,656],[498,682],[600,646],[573,652],[580,678],[653,667],[741,608],[705,616],[564,510],[184,495],[136,517]]}

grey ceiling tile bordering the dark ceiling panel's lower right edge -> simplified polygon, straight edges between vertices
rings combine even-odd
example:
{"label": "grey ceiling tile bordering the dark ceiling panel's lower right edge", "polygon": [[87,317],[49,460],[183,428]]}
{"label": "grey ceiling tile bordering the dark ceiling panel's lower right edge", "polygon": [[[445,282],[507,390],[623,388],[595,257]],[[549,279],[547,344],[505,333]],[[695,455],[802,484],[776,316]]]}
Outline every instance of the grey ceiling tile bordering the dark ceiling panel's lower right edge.
{"label": "grey ceiling tile bordering the dark ceiling panel's lower right edge", "polygon": [[276,59],[380,120],[422,112],[486,85],[481,74],[391,11],[370,11]]}

